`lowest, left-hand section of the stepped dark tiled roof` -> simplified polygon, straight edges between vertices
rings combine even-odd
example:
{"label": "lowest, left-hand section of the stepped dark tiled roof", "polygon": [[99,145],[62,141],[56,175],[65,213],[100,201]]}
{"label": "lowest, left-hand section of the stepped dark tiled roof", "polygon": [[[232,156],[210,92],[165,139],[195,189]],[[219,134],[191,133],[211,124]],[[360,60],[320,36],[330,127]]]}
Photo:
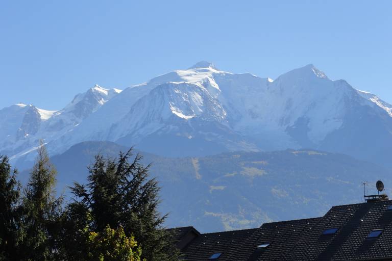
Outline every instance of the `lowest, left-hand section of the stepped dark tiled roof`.
{"label": "lowest, left-hand section of the stepped dark tiled roof", "polygon": [[183,252],[186,260],[208,260],[222,253],[217,260],[226,260],[257,228],[201,234]]}

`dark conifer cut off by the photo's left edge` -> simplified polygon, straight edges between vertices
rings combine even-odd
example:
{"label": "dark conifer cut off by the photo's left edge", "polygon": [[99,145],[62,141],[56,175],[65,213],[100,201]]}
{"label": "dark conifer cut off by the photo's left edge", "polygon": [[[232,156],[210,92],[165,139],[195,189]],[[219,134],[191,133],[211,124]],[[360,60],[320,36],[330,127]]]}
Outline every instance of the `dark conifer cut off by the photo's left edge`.
{"label": "dark conifer cut off by the photo's left edge", "polygon": [[0,260],[17,260],[20,241],[20,184],[7,156],[0,155]]}

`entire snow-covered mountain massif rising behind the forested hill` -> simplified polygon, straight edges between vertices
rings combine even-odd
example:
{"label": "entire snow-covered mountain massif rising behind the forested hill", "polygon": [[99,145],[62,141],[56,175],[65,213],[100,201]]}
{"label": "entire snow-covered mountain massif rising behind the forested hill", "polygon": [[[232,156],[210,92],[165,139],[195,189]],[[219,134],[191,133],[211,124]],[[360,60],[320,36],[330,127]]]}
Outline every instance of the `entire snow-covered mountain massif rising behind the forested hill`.
{"label": "entire snow-covered mountain massif rising behind the forested hill", "polygon": [[387,164],[391,110],[313,65],[273,81],[200,62],[122,92],[95,86],[56,112],[0,110],[0,152],[18,159],[41,138],[52,154],[97,140],[166,156],[306,147]]}

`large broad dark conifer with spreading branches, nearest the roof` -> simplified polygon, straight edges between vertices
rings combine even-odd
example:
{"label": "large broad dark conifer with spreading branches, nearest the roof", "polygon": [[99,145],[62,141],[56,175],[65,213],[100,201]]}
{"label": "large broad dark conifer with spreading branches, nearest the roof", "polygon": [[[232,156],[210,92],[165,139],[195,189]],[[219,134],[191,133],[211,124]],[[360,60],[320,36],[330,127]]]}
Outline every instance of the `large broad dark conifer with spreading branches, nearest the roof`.
{"label": "large broad dark conifer with spreading branches, nearest the roof", "polygon": [[[149,178],[149,166],[141,164],[137,154],[130,162],[132,149],[118,159],[95,157],[89,168],[88,183],[71,188],[80,204],[91,213],[92,227],[103,232],[107,225],[124,228],[134,236],[148,261],[178,260],[171,234],[162,229],[166,216],[158,212],[159,191],[155,178]],[[81,208],[79,208],[81,209]]]}

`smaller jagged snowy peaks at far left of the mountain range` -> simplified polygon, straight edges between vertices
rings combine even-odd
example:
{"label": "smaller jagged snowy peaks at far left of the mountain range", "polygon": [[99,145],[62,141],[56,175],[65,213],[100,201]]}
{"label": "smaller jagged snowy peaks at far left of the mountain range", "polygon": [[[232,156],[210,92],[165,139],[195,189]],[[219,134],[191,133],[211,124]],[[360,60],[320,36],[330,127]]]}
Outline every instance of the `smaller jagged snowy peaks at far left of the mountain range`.
{"label": "smaller jagged snowy peaks at far left of the mountain range", "polygon": [[[95,85],[87,92],[76,95],[59,111],[47,111],[23,103],[0,110],[1,153],[8,154],[12,160],[34,158],[34,153],[30,152],[35,151],[40,139],[46,144],[62,139],[120,92]],[[55,150],[51,152],[56,153]]]}

